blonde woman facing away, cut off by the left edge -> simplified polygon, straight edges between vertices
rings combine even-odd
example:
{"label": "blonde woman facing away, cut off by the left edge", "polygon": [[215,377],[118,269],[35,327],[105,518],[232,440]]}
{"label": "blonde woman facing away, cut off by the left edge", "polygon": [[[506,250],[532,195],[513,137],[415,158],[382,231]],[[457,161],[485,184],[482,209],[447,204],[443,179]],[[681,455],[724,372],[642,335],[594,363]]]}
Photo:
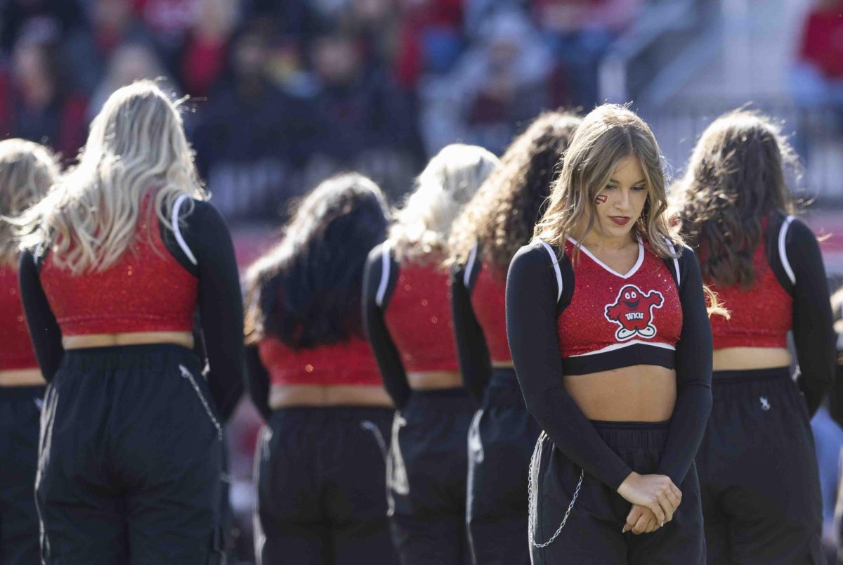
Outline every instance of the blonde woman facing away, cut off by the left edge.
{"label": "blonde woman facing away, cut off by the left edge", "polygon": [[[61,171],[50,151],[23,139],[0,142],[0,218],[39,201]],[[18,291],[18,246],[12,225],[0,221],[0,562],[37,563],[35,466],[44,396]]]}

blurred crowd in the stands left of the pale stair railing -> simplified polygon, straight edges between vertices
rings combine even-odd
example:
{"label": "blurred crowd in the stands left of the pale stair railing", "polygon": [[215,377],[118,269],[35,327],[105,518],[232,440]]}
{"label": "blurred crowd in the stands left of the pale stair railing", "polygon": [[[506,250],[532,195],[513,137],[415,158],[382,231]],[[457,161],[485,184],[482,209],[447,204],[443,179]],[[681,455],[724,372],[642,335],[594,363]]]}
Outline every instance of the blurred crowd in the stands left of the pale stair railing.
{"label": "blurred crowd in the stands left of the pale stair railing", "polygon": [[162,77],[229,221],[338,169],[397,196],[447,143],[499,153],[539,110],[591,107],[642,2],[0,0],[0,134],[70,163],[112,90]]}

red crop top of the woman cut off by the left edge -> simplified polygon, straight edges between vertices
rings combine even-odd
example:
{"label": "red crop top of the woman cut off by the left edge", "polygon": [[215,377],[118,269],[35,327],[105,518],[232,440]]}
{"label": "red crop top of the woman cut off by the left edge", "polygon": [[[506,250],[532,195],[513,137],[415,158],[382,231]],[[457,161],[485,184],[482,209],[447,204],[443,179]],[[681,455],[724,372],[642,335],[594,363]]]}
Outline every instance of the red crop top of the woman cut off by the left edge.
{"label": "red crop top of the woman cut off by the left edge", "polygon": [[0,266],[0,371],[38,369],[18,291],[18,272]]}

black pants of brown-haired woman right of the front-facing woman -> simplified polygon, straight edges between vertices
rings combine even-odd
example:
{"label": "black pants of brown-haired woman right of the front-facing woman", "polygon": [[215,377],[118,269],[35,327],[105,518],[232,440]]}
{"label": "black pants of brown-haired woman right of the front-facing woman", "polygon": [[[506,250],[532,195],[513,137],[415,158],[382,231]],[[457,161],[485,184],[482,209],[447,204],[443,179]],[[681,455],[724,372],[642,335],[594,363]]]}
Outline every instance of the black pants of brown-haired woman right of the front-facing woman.
{"label": "black pants of brown-haired woman right of the front-facing woman", "polygon": [[718,371],[696,456],[712,564],[824,563],[808,409],[788,369]]}

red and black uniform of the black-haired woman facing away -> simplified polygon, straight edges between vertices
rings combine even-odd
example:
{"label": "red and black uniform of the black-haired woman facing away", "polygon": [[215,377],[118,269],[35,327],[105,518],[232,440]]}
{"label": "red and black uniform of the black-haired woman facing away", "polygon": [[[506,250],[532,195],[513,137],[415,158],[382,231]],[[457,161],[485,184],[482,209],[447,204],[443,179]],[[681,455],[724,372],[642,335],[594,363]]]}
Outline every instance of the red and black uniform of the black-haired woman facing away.
{"label": "red and black uniform of the black-haired woman facing away", "polygon": [[384,459],[393,410],[291,406],[272,410],[270,385],[380,385],[368,343],[317,347],[267,336],[246,349],[250,394],[266,418],[255,452],[258,563],[395,562],[386,518]]}

